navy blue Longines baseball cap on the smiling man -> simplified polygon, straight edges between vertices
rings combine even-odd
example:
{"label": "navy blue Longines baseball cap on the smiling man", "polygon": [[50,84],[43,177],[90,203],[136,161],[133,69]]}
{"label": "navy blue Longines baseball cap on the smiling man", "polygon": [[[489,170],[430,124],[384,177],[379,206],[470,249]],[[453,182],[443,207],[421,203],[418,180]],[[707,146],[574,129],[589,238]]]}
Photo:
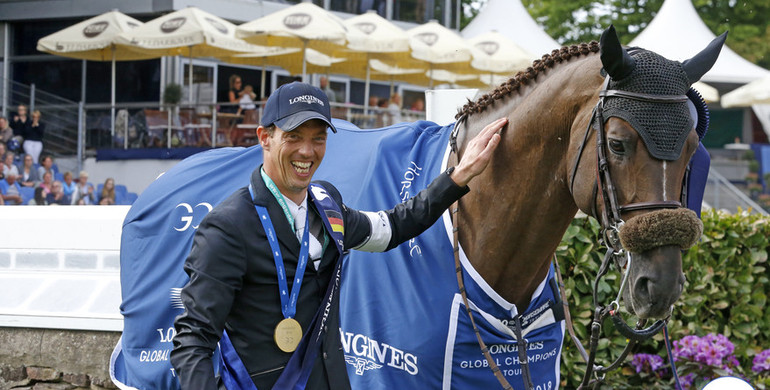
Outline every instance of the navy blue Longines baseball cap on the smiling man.
{"label": "navy blue Longines baseball cap on the smiling man", "polygon": [[292,131],[311,119],[320,119],[337,132],[326,94],[310,84],[295,81],[278,87],[270,95],[260,122],[262,126],[274,124],[283,131]]}

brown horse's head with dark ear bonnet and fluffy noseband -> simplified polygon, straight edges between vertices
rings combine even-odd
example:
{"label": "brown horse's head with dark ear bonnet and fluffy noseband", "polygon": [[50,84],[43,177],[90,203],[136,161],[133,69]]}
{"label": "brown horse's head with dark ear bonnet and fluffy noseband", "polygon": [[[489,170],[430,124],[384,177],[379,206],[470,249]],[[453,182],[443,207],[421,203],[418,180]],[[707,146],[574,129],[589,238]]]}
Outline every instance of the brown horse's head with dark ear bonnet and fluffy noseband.
{"label": "brown horse's head with dark ear bonnet and fluffy noseband", "polygon": [[[578,206],[609,230],[608,244],[619,236],[630,253],[624,300],[640,318],[669,315],[685,280],[681,251],[702,231],[695,213],[680,204],[698,147],[696,127],[700,121],[705,131],[707,121],[707,115],[698,118],[703,111],[695,106],[702,101],[689,90],[713,66],[725,38],[680,63],[624,49],[612,27],[602,35],[607,77],[590,124],[603,130],[597,134],[598,158],[576,163],[572,190]],[[591,160],[582,148],[577,154],[577,161]],[[576,176],[581,180],[575,182]]]}

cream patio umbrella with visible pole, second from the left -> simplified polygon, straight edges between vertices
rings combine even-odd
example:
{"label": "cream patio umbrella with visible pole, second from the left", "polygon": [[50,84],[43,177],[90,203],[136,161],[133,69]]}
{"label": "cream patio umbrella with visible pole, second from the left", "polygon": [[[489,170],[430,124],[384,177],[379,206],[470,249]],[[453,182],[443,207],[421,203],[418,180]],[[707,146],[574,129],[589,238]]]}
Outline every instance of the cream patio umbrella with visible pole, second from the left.
{"label": "cream patio umbrella with visible pole, second from the left", "polygon": [[193,57],[222,57],[256,50],[235,37],[235,25],[195,7],[155,18],[118,36],[118,42],[155,56],[190,57],[189,101],[193,102]]}

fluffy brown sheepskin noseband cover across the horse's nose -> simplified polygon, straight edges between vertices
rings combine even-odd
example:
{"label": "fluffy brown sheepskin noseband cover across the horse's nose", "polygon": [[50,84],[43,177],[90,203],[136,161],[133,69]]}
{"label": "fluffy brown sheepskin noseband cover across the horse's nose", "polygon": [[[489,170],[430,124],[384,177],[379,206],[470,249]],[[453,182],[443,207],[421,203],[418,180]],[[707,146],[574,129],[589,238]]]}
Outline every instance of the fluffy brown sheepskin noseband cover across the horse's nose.
{"label": "fluffy brown sheepskin noseband cover across the horse's nose", "polygon": [[663,209],[637,215],[620,228],[620,242],[629,252],[643,253],[661,246],[689,249],[703,234],[703,223],[690,209]]}

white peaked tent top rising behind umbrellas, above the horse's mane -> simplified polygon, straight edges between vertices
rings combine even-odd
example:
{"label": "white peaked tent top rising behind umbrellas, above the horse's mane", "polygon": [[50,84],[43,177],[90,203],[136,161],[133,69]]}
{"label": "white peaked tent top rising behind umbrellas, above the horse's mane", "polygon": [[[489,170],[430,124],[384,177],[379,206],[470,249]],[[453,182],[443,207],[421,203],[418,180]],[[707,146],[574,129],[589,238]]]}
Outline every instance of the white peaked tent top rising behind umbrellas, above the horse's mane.
{"label": "white peaked tent top rising behind umbrellas, above the horse's mane", "polygon": [[562,46],[532,19],[521,0],[489,0],[461,35],[470,39],[490,31],[499,32],[535,58]]}

